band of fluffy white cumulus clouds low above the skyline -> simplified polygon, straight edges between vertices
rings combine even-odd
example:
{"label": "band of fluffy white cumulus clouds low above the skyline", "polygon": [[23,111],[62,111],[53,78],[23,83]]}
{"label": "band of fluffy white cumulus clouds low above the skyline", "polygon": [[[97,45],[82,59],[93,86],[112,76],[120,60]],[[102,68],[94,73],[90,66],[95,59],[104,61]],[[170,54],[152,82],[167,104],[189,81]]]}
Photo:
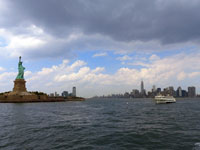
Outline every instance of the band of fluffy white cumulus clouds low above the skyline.
{"label": "band of fluffy white cumulus clouds low above the skyline", "polygon": [[[200,53],[177,54],[170,57],[153,59],[144,62],[141,68],[122,67],[114,73],[108,74],[106,67],[91,68],[82,60],[72,64],[63,60],[61,64],[42,68],[37,72],[26,71],[25,79],[27,89],[30,91],[44,91],[47,93],[64,90],[71,92],[73,86],[77,87],[79,96],[90,97],[111,93],[124,93],[134,88],[140,88],[141,79],[145,88],[149,90],[152,85],[175,88],[187,88],[194,85],[200,88]],[[0,74],[0,87],[12,90],[16,72],[3,72]]]}

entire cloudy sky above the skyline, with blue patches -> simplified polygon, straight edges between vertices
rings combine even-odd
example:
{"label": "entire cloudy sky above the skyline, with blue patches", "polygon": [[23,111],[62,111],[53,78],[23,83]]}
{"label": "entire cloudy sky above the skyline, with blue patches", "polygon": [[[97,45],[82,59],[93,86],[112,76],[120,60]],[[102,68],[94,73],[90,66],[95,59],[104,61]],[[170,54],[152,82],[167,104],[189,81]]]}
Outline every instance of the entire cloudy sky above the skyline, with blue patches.
{"label": "entire cloudy sky above the skyline, with blue patches", "polygon": [[0,91],[18,57],[29,91],[79,96],[194,85],[200,93],[199,0],[0,0]]}

